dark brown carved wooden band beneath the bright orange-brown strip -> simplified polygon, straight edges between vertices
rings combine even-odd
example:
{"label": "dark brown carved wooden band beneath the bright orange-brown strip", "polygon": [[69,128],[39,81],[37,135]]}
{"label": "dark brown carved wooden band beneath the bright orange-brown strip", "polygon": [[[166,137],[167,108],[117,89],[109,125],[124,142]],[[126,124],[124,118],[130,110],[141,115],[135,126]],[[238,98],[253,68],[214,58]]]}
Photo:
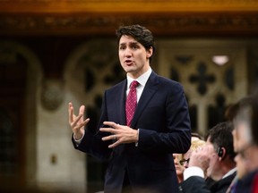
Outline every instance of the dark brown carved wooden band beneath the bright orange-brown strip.
{"label": "dark brown carved wooden band beneath the bright orange-brown strip", "polygon": [[258,13],[160,15],[0,15],[0,35],[113,35],[121,24],[139,23],[156,35],[254,35]]}

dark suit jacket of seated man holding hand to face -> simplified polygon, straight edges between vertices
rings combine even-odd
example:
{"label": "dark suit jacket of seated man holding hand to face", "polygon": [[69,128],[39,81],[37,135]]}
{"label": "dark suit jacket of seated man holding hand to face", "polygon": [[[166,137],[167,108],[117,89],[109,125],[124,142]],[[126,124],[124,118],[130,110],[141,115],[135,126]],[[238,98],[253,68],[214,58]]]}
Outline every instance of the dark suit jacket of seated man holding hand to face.
{"label": "dark suit jacket of seated man holding hand to face", "polygon": [[187,180],[183,181],[179,185],[179,192],[181,193],[225,193],[231,183],[235,178],[236,172],[228,175],[228,177],[223,178],[219,181],[212,183],[211,187],[208,187],[207,182],[199,176],[192,176]]}

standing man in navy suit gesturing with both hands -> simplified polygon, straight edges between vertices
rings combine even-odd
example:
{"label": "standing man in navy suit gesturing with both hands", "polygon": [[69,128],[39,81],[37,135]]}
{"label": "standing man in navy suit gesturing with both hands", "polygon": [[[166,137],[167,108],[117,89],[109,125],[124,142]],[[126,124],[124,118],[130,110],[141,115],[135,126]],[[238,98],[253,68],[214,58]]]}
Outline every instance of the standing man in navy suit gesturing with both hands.
{"label": "standing man in navy suit gesturing with both hands", "polygon": [[[105,193],[177,192],[171,154],[185,153],[191,144],[183,87],[151,70],[155,46],[149,29],[125,26],[117,29],[116,35],[126,79],[105,91],[96,133],[84,129],[90,122],[89,118],[83,119],[85,107],[82,105],[76,116],[69,103],[73,145],[99,159],[109,160]],[[133,80],[138,82],[136,88],[130,88]],[[133,89],[136,89],[137,107],[131,121],[127,120],[130,114],[127,101]]]}

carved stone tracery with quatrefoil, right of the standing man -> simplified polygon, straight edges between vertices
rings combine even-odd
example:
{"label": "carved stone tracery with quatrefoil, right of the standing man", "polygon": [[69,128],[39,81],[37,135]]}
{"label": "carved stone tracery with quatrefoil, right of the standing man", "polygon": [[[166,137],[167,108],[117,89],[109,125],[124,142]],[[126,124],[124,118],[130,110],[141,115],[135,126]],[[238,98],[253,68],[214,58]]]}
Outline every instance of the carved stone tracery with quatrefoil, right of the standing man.
{"label": "carved stone tracery with quatrefoil, right of the standing man", "polygon": [[[246,45],[226,40],[159,41],[159,74],[181,82],[190,107],[192,130],[203,136],[225,121],[225,109],[247,94]],[[227,56],[215,63],[214,56]]]}

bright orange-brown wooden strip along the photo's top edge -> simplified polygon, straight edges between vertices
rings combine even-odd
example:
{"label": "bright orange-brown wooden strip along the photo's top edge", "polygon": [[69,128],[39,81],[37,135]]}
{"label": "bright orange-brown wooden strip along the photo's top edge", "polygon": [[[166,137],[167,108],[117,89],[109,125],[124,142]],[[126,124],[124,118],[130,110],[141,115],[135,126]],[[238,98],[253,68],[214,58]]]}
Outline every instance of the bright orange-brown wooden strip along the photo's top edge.
{"label": "bright orange-brown wooden strip along the photo's top edge", "polygon": [[0,0],[4,13],[257,11],[257,0]]}

